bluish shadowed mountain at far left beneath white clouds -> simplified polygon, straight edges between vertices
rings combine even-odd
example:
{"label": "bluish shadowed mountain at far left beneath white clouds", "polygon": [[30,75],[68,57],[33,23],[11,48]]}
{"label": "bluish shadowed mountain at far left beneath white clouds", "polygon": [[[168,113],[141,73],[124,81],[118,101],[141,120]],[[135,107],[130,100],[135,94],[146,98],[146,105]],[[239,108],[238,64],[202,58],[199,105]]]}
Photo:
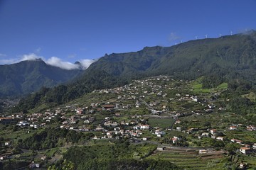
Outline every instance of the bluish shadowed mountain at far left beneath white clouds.
{"label": "bluish shadowed mountain at far left beneath white clouds", "polygon": [[41,59],[0,65],[0,97],[29,94],[42,86],[53,87],[81,73],[78,69],[50,66]]}

